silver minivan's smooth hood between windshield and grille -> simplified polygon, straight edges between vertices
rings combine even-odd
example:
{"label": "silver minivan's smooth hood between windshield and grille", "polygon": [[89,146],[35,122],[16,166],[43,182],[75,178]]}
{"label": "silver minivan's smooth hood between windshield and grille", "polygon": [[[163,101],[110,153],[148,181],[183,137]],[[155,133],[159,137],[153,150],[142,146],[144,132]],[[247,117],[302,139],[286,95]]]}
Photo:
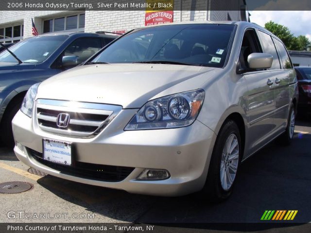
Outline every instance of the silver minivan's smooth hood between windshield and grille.
{"label": "silver minivan's smooth hood between windshield and grille", "polygon": [[41,83],[36,99],[98,102],[121,105],[123,108],[140,108],[155,96],[161,97],[159,94],[164,96],[200,88],[200,84],[206,82],[207,75],[203,74],[216,69],[164,64],[86,65],[62,72]]}

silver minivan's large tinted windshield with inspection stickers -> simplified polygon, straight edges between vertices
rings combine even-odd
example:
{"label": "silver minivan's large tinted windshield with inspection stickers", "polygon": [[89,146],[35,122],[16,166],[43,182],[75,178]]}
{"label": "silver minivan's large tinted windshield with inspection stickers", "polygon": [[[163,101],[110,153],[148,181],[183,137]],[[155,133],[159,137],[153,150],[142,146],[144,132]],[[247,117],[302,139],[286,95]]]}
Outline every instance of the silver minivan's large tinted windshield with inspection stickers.
{"label": "silver minivan's large tinted windshield with inspection stickers", "polygon": [[115,41],[89,64],[224,67],[233,31],[234,25],[228,24],[179,24],[138,29]]}

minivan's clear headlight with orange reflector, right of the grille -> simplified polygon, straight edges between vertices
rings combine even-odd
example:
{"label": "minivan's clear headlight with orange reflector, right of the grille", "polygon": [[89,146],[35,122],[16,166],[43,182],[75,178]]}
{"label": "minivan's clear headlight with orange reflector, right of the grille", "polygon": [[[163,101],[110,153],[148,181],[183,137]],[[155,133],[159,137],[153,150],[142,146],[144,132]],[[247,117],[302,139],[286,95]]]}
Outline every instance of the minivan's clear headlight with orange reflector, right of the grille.
{"label": "minivan's clear headlight with orange reflector, right of the grille", "polygon": [[204,90],[199,89],[151,100],[139,109],[124,130],[188,126],[198,116],[204,96]]}

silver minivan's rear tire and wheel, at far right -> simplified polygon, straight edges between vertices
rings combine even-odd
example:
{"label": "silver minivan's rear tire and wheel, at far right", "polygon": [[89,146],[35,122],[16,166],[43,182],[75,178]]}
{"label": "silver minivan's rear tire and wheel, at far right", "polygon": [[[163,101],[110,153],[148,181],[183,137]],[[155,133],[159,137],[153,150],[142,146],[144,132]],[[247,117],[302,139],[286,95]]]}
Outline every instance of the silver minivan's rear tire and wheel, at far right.
{"label": "silver minivan's rear tire and wheel, at far right", "polygon": [[294,137],[294,130],[295,130],[295,118],[296,118],[296,112],[294,105],[291,105],[288,120],[287,120],[287,127],[284,133],[282,133],[277,138],[277,143],[283,146],[288,146],[291,144],[292,139]]}

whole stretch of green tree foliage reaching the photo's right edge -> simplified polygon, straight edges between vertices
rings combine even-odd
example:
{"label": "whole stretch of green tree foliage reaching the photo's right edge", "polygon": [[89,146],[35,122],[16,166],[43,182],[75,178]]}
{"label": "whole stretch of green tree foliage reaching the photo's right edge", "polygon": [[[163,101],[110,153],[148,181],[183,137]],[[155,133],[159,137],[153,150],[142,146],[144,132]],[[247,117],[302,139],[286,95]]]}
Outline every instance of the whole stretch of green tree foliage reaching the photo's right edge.
{"label": "whole stretch of green tree foliage reaching the photo's right edge", "polygon": [[295,37],[288,27],[281,24],[269,21],[264,27],[280,38],[288,50],[306,50],[310,46],[310,41],[305,35]]}

